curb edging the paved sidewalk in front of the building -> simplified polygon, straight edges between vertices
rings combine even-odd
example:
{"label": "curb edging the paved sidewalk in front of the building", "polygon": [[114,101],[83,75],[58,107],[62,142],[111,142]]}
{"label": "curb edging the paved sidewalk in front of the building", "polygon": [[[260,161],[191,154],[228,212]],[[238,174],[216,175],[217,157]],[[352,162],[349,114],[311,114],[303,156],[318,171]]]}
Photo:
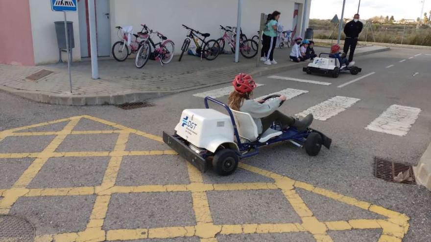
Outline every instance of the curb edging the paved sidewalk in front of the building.
{"label": "curb edging the paved sidewalk in front of the building", "polygon": [[[370,50],[365,52],[359,52],[356,55],[367,55],[376,52],[389,50],[389,47]],[[289,65],[278,65],[277,67],[255,67],[250,71],[250,75],[260,77],[276,72],[287,71],[291,69],[301,68],[307,66],[308,63],[295,63]],[[253,68],[253,67],[252,67]],[[191,88],[183,88],[180,90],[173,91],[148,91],[148,92],[129,92],[117,95],[77,95],[73,94],[61,94],[52,93],[47,91],[30,91],[23,89],[9,88],[6,86],[0,86],[0,90],[6,91],[11,94],[15,94],[26,99],[30,99],[40,103],[55,104],[55,105],[69,105],[69,106],[86,106],[86,105],[119,105],[123,103],[142,102],[147,99],[163,97],[167,95],[177,94],[180,92],[190,91],[199,88],[208,88],[220,84],[230,83],[230,81],[215,82],[210,84],[204,84],[200,86],[194,86]]]}

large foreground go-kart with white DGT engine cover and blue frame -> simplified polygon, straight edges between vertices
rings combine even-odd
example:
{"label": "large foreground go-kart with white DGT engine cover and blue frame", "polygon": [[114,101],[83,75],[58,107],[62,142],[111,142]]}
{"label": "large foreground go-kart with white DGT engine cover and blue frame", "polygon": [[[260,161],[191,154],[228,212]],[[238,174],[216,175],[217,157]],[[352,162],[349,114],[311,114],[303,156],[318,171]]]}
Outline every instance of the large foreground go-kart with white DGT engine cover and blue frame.
{"label": "large foreground go-kart with white DGT engine cover and blue frame", "polygon": [[[210,109],[208,101],[222,106],[229,115]],[[218,175],[228,176],[235,172],[240,159],[259,154],[259,147],[281,141],[304,147],[309,155],[317,155],[322,145],[328,149],[331,146],[332,140],[321,132],[310,128],[299,132],[293,127],[282,130],[278,123],[259,135],[249,113],[231,110],[211,97],[205,97],[204,102],[205,109],[183,110],[173,135],[163,132],[163,141],[201,172],[206,172],[212,161]]]}

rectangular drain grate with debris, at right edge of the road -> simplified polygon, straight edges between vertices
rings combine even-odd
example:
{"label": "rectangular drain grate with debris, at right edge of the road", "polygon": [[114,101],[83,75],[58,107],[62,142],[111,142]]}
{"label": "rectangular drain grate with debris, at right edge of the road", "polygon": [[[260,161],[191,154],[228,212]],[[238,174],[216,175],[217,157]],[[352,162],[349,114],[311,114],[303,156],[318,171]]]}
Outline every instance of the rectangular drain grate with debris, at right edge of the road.
{"label": "rectangular drain grate with debris, at right edge of the road", "polygon": [[[402,173],[402,174],[400,174]],[[374,158],[374,176],[390,182],[416,184],[410,165]]]}

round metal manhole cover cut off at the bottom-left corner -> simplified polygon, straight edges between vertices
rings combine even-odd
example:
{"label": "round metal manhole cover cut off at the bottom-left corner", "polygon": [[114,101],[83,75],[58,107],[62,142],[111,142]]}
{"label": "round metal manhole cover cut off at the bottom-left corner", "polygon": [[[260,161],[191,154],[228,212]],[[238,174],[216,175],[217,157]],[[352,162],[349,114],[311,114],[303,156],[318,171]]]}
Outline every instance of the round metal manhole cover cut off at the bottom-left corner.
{"label": "round metal manhole cover cut off at the bottom-left corner", "polygon": [[0,242],[33,242],[35,229],[22,218],[0,215]]}

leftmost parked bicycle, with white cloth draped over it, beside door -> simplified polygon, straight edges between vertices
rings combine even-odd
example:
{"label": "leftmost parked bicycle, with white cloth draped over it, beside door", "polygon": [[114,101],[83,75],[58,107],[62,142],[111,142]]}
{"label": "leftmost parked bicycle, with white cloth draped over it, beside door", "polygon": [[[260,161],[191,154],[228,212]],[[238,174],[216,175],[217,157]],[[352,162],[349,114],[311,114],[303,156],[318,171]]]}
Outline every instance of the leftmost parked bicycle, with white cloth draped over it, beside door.
{"label": "leftmost parked bicycle, with white cloth draped over it, beside door", "polygon": [[[145,34],[144,28],[138,32],[137,34],[133,34],[133,36],[135,36],[135,40],[131,40],[130,45],[128,43],[129,37],[128,37],[128,33],[122,33],[122,37],[120,36],[119,32],[122,32],[122,27],[120,26],[116,26],[115,28],[117,28],[117,35],[119,36],[119,38],[121,39],[120,41],[117,41],[116,43],[114,43],[112,45],[112,56],[114,57],[114,59],[116,59],[117,61],[125,61],[127,59],[127,57],[129,55],[131,55],[132,53],[136,53],[139,48],[141,47],[142,44],[144,44],[145,40],[148,38],[148,34]],[[143,39],[142,41],[138,41],[138,38]],[[129,52],[129,47],[130,46],[130,52]]]}

